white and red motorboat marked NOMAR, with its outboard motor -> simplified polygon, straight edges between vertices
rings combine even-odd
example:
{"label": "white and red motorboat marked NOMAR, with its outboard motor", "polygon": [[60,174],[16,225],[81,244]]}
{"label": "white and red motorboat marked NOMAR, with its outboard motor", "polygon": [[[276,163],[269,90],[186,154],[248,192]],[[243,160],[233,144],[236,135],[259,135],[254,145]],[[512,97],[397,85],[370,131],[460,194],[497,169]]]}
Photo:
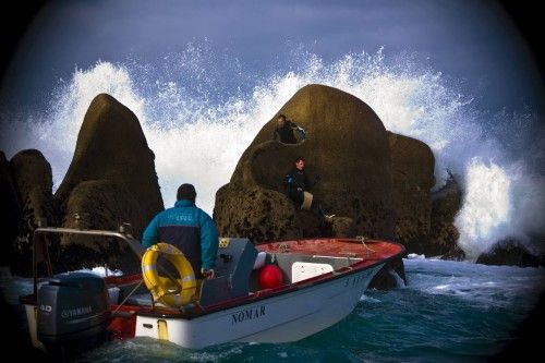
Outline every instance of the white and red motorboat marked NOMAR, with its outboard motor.
{"label": "white and red motorboat marked NOMAR, with its outboard motor", "polygon": [[[349,315],[378,270],[404,253],[402,245],[379,240],[307,239],[254,247],[246,239],[222,239],[217,275],[199,283],[191,302],[180,307],[157,303],[143,287],[142,275],[136,274],[104,277],[109,299],[93,305],[85,299],[70,298],[72,290],[75,297],[81,295],[77,287],[92,293],[93,281],[73,285],[77,276],[60,282],[59,276],[38,278],[40,262],[51,273],[43,238],[51,233],[116,237],[142,254],[138,241],[122,232],[37,229],[35,289],[21,302],[27,312],[33,344],[45,350],[75,347],[81,340],[94,340],[89,337],[105,336],[149,337],[190,349],[233,341],[299,340]],[[263,289],[258,282],[261,268],[254,268],[256,256],[265,265],[277,266],[283,282]],[[62,276],[70,275],[60,275],[61,280]],[[105,291],[98,287],[97,294],[104,297]],[[73,330],[77,331],[70,330],[71,322],[76,322]]]}

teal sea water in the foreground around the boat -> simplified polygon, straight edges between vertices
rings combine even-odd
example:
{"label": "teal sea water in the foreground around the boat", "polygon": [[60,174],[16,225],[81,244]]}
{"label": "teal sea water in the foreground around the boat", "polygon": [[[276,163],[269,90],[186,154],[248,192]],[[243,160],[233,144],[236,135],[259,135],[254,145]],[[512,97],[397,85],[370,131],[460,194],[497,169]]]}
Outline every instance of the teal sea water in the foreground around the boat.
{"label": "teal sea water in the foreground around the boat", "polygon": [[[484,362],[514,338],[545,269],[405,259],[408,286],[367,290],[337,325],[303,340],[192,351],[148,338],[107,342],[77,362]],[[11,304],[25,279],[4,281]]]}

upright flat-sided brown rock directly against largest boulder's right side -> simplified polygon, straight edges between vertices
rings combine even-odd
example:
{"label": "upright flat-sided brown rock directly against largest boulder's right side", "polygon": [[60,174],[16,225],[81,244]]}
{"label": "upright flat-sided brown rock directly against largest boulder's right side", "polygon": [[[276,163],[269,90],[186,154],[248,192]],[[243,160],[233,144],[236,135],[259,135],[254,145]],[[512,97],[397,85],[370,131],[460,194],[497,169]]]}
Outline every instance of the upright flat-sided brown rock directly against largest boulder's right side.
{"label": "upright flat-sided brown rock directly against largest boulder's right side", "polygon": [[429,146],[419,140],[388,133],[388,141],[395,234],[410,253],[422,254],[428,249],[435,157]]}

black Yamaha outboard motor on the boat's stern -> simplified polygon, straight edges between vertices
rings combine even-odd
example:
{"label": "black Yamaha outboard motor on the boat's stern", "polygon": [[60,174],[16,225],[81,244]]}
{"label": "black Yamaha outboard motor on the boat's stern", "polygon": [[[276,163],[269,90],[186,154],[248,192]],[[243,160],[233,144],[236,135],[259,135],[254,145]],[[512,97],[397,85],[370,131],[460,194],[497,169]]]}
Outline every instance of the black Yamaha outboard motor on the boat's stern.
{"label": "black Yamaha outboard motor on the boat's stern", "polygon": [[85,350],[106,337],[110,317],[102,278],[88,273],[63,274],[38,290],[38,339],[48,350]]}

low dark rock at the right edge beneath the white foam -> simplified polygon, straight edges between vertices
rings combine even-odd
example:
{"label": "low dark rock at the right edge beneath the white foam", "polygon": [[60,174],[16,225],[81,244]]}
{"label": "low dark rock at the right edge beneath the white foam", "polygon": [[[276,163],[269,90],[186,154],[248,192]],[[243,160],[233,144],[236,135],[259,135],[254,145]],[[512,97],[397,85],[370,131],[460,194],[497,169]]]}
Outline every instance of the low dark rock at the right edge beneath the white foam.
{"label": "low dark rock at the right edge beneath the white foam", "polygon": [[481,254],[477,264],[483,265],[507,265],[519,267],[544,266],[543,257],[534,256],[519,241],[508,239],[496,243],[489,252]]}

